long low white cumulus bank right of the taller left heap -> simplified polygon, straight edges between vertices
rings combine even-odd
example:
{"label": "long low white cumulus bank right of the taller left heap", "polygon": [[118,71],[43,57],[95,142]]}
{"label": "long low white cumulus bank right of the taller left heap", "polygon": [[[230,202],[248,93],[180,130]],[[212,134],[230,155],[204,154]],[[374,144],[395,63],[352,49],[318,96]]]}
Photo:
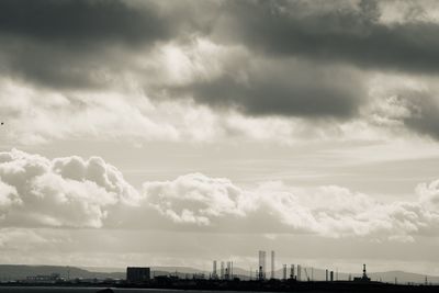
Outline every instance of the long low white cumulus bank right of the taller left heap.
{"label": "long low white cumulus bank right of the taller left heap", "polygon": [[415,235],[436,235],[438,185],[420,184],[414,201],[383,203],[337,185],[304,189],[266,182],[241,189],[227,179],[191,173],[146,182],[144,194],[150,206],[177,224],[414,240]]}

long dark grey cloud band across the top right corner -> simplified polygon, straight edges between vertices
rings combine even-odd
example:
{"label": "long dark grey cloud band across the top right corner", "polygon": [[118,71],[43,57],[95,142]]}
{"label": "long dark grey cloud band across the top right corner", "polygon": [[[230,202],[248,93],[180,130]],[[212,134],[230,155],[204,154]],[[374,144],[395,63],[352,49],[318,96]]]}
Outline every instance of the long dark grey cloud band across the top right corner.
{"label": "long dark grey cloud band across the top right corner", "polygon": [[[306,2],[305,2],[306,3]],[[374,1],[319,10],[301,1],[232,1],[215,37],[240,42],[271,56],[302,56],[361,68],[437,72],[439,25],[384,24]]]}

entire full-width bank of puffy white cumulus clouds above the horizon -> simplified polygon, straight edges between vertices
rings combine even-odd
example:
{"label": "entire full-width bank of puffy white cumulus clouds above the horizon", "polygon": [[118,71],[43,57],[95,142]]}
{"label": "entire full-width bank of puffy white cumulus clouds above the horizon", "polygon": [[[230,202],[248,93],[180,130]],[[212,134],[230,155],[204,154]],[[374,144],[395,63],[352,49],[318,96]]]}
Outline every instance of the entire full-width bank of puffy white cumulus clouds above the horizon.
{"label": "entire full-width bank of puffy white cumulus clouds above the horizon", "polygon": [[0,153],[1,227],[184,227],[403,241],[438,236],[439,180],[415,192],[412,201],[384,203],[337,185],[269,181],[243,188],[202,173],[146,181],[138,192],[99,157]]}

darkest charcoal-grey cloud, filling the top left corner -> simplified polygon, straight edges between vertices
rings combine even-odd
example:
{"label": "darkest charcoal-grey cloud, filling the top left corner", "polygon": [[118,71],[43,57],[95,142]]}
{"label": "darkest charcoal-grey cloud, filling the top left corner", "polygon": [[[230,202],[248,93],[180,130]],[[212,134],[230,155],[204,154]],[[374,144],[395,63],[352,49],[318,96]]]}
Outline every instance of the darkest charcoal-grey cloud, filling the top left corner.
{"label": "darkest charcoal-grey cloud, filling the top left corner", "polygon": [[154,2],[117,0],[0,1],[0,32],[46,42],[138,43],[168,37],[171,29]]}

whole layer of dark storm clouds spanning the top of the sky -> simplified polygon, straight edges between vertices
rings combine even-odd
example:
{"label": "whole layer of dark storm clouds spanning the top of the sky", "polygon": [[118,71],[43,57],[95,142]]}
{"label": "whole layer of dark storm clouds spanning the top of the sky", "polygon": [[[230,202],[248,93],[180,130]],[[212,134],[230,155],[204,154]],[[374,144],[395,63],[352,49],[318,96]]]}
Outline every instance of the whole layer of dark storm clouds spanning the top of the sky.
{"label": "whole layer of dark storm clouds spanning the top of the sky", "polygon": [[[64,95],[135,84],[153,102],[192,100],[223,114],[364,120],[371,76],[439,68],[439,24],[419,16],[421,3],[398,22],[386,21],[384,4],[7,0],[0,72]],[[437,138],[437,113],[425,109],[407,128]]]}

